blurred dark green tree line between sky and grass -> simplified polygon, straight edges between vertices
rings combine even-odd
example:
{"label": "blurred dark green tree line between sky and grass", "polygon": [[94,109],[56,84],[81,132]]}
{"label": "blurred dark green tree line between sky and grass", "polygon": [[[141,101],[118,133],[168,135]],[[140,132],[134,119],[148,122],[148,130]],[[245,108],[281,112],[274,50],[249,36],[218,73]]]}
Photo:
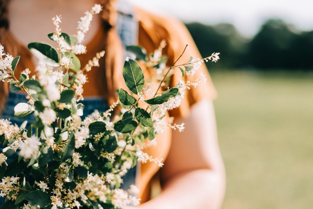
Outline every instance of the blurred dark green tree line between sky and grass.
{"label": "blurred dark green tree line between sky and grass", "polygon": [[229,23],[186,23],[203,57],[220,52],[223,62],[209,68],[313,70],[313,31],[298,31],[281,19],[269,19],[251,39]]}

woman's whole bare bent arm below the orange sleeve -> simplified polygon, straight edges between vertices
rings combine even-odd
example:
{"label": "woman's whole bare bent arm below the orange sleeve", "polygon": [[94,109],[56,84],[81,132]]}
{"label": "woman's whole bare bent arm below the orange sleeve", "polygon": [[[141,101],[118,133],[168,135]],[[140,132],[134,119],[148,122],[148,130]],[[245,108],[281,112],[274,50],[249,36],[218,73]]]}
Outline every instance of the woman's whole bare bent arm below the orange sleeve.
{"label": "woman's whole bare bent arm below the orange sleeve", "polygon": [[219,208],[225,173],[212,101],[204,99],[192,105],[188,118],[174,122],[186,125],[181,133],[173,131],[172,147],[161,170],[163,191],[138,208]]}

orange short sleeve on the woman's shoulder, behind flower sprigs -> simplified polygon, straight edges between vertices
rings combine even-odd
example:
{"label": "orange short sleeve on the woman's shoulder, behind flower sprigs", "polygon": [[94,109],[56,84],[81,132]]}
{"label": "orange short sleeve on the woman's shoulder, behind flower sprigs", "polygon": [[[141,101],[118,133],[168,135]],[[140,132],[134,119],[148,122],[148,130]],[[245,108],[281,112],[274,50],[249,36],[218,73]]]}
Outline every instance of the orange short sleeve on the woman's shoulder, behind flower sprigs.
{"label": "orange short sleeve on the woman's shoulder, behind flower sprigs", "polygon": [[[148,53],[152,53],[154,49],[158,48],[161,40],[165,39],[167,46],[164,48],[163,52],[168,56],[167,64],[169,66],[181,56],[186,45],[187,48],[185,52],[175,65],[186,63],[190,57],[201,59],[196,44],[182,22],[174,18],[152,14],[139,8],[136,8],[136,11],[137,18],[139,18],[138,44],[146,48]],[[202,99],[212,100],[216,97],[216,91],[205,63],[201,65],[200,69],[193,76],[185,75],[182,78],[180,70],[177,70],[176,72],[177,73],[172,76],[171,87],[178,84],[180,79],[185,80],[185,82],[192,82],[195,79],[200,79],[201,74],[206,75],[207,82],[202,82],[196,88],[191,87],[191,89],[187,90],[185,99],[182,100],[182,104],[178,108],[170,111],[171,116],[186,117],[189,114],[190,107],[194,103],[201,101]]]}

